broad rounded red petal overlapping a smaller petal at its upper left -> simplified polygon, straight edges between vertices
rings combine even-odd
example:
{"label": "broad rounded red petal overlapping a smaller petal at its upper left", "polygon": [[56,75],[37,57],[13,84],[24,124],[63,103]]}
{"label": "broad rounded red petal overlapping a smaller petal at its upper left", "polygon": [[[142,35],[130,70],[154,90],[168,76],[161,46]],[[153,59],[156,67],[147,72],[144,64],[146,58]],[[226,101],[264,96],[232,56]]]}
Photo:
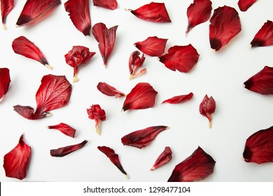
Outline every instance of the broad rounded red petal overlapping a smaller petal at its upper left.
{"label": "broad rounded red petal overlapping a smaller petal at its upper left", "polygon": [[160,62],[172,71],[181,71],[187,73],[197,63],[199,54],[193,45],[174,45],[169,48],[168,54],[160,57]]}

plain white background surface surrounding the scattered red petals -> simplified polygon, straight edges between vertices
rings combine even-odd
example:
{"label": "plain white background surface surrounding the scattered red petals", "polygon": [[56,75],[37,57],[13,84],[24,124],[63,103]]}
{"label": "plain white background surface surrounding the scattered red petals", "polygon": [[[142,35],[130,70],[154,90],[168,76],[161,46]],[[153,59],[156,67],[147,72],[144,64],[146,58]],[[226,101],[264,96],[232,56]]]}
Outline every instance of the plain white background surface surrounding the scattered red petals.
{"label": "plain white background surface surrounding the scattered red petals", "polygon": [[[7,30],[0,29],[0,67],[10,69],[10,90],[0,102],[0,158],[18,144],[21,134],[31,146],[32,156],[23,181],[167,181],[174,167],[201,146],[216,165],[214,174],[204,181],[272,181],[273,165],[246,163],[242,159],[246,139],[258,130],[272,126],[273,97],[251,92],[244,88],[244,81],[265,65],[273,66],[272,46],[251,48],[250,42],[267,20],[273,20],[272,1],[257,1],[245,13],[237,0],[212,1],[218,6],[234,7],[241,18],[242,30],[218,52],[209,45],[209,21],[193,28],[185,36],[188,18],[186,10],[192,1],[165,2],[172,23],[156,24],[136,18],[124,8],[136,9],[151,1],[118,1],[118,9],[94,7],[90,2],[92,25],[104,22],[107,27],[118,25],[116,45],[105,69],[93,36],[85,37],[73,26],[62,5],[57,6],[47,18],[26,27],[15,27],[25,1],[15,0],[15,8],[6,20]],[[18,36],[33,41],[54,69],[17,55],[11,48]],[[167,49],[173,45],[191,43],[200,59],[190,73],[171,71],[156,57],[146,56],[144,76],[129,80],[128,59],[134,43],[148,36],[168,38]],[[52,111],[53,116],[41,120],[27,120],[13,111],[20,104],[36,108],[35,94],[41,78],[47,74],[65,75],[72,83],[73,69],[66,64],[64,55],[73,45],[84,45],[97,52],[90,63],[81,66],[78,83],[73,84],[70,102],[62,109]],[[118,90],[129,93],[139,82],[150,83],[158,91],[155,107],[139,111],[121,112],[124,99],[107,97],[97,90],[97,83],[106,82]],[[192,100],[183,104],[160,103],[179,94],[193,92]],[[212,115],[212,129],[207,118],[199,113],[199,104],[205,94],[216,100]],[[87,118],[86,109],[100,104],[106,111],[102,122],[102,135],[95,133],[94,120]],[[74,127],[76,138],[66,137],[48,125],[67,123]],[[154,125],[167,125],[169,130],[143,149],[123,146],[120,139],[125,134]],[[52,158],[50,149],[89,142],[79,151],[63,158]],[[97,146],[109,146],[120,156],[130,180],[101,153]],[[173,151],[173,160],[151,172],[158,155],[165,146]],[[18,181],[5,176],[0,167],[1,181]]]}

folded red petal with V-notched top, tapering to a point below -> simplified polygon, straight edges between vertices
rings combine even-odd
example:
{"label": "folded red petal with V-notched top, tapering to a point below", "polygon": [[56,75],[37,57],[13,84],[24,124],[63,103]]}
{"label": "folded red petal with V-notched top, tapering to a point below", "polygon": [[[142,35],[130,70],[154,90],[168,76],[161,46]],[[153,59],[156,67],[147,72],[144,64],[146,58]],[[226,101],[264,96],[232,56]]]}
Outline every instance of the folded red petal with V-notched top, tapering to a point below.
{"label": "folded red petal with V-notched top, tapering to a point below", "polygon": [[97,42],[99,42],[99,52],[104,60],[104,66],[106,66],[107,61],[113,52],[117,29],[118,25],[107,29],[106,25],[102,22],[97,23],[92,27],[92,34]]}

